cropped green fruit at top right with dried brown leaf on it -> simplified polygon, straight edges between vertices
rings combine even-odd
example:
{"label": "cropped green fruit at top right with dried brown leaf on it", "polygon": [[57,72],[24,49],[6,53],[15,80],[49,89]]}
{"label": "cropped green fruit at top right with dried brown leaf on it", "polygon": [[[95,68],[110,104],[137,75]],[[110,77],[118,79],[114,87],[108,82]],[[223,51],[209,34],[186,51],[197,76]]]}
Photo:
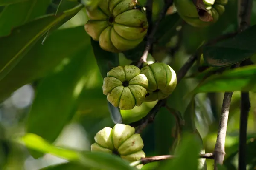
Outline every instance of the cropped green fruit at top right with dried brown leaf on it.
{"label": "cropped green fruit at top right with dried brown leaf on it", "polygon": [[199,19],[198,10],[192,0],[174,0],[175,7],[180,17],[191,26],[204,27],[216,23],[224,13],[228,0],[203,0],[207,12],[211,14],[213,21],[206,22]]}

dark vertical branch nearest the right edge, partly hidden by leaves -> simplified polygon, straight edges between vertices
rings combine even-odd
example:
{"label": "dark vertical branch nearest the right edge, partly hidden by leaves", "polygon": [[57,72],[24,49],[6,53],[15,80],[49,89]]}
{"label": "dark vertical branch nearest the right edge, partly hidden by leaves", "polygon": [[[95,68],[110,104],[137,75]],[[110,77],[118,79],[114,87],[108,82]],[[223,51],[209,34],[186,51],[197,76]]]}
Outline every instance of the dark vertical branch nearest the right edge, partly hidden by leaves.
{"label": "dark vertical branch nearest the right edge, partly hidden by leaves", "polygon": [[[253,0],[238,1],[238,24],[239,33],[250,27],[251,12]],[[241,67],[250,65],[250,60],[241,62]],[[249,92],[241,91],[241,108],[240,108],[240,128],[239,128],[239,161],[238,169],[246,170],[246,139],[247,139],[247,123],[250,111],[250,96]]]}

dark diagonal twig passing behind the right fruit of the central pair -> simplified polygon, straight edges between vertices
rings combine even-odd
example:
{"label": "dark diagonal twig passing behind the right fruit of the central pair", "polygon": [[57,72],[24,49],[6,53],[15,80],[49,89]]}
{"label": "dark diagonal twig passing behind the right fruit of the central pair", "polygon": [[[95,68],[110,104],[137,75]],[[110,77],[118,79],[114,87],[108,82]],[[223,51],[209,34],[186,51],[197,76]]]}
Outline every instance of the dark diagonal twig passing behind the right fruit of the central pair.
{"label": "dark diagonal twig passing behind the right fruit of the central pair", "polygon": [[[177,84],[181,81],[183,77],[185,77],[186,73],[189,71],[189,69],[192,67],[193,63],[196,60],[196,55],[191,56],[186,63],[180,68],[180,71],[177,73]],[[157,114],[157,112],[160,110],[161,107],[165,106],[167,99],[159,100],[157,104],[151,109],[151,111],[148,112],[148,114],[140,119],[137,122],[133,122],[130,124],[132,127],[137,127],[136,133],[141,133],[143,129],[148,125],[148,123],[151,123],[154,121],[154,118]]]}

